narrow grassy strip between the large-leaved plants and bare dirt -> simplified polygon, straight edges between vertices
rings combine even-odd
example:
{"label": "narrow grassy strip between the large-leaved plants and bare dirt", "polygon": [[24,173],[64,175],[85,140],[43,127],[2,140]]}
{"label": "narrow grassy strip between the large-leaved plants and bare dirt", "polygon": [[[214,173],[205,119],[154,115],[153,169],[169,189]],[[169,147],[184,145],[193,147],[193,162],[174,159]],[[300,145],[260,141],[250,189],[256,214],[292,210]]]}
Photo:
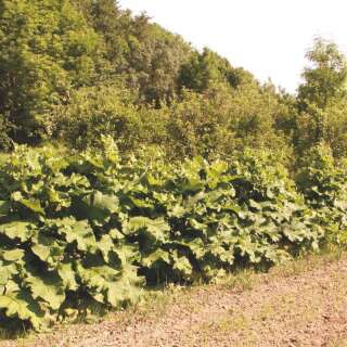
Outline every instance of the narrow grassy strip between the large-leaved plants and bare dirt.
{"label": "narrow grassy strip between the large-leaved plants and bare dirt", "polygon": [[[347,257],[345,247],[326,246],[316,253],[307,253],[293,258],[282,265],[275,265],[265,270],[255,268],[243,268],[218,280],[216,283],[194,283],[192,285],[160,285],[146,287],[142,300],[123,310],[115,310],[101,317],[93,317],[90,321],[56,324],[49,333],[37,333],[34,330],[13,333],[0,330],[0,347],[17,346],[30,347],[36,344],[37,338],[55,339],[64,335],[72,326],[94,325],[103,321],[112,321],[119,326],[127,326],[134,319],[144,321],[146,319],[159,320],[163,313],[175,303],[184,303],[195,292],[202,288],[219,288],[237,294],[253,291],[264,283],[271,283],[277,279],[298,277],[305,272],[313,271],[320,267],[339,261]],[[15,345],[13,345],[15,343]]]}

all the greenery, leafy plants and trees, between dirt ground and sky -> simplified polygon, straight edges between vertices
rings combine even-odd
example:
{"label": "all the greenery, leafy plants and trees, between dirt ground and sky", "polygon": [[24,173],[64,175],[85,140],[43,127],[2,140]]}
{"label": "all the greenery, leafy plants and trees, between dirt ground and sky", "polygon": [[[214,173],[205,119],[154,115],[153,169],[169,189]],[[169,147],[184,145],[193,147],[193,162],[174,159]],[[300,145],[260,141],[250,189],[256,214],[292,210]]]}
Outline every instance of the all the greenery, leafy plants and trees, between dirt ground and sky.
{"label": "all the greenery, leafy plants and trees, between dirt ground and sky", "polygon": [[307,57],[288,94],[114,0],[0,0],[1,326],[346,244],[346,59]]}

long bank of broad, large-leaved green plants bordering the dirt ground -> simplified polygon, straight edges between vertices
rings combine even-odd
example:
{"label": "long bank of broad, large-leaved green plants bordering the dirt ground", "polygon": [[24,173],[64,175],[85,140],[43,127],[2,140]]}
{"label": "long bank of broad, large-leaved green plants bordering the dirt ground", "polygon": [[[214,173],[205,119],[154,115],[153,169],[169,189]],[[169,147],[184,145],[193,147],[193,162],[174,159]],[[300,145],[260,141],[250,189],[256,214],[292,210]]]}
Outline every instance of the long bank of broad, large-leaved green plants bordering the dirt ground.
{"label": "long bank of broad, large-leaved green plants bordering the dirt ground", "polygon": [[144,284],[217,280],[343,243],[339,172],[303,170],[305,201],[273,160],[121,160],[111,139],[70,156],[17,147],[0,167],[1,321],[39,330],[136,303]]}

